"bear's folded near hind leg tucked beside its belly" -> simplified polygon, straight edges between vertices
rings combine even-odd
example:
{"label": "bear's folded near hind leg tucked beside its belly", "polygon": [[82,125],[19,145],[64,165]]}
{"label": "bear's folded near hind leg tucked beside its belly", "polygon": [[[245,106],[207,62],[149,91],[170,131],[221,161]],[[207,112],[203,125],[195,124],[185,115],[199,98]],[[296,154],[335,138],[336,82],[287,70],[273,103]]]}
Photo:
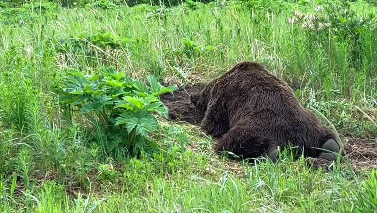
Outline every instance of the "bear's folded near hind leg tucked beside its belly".
{"label": "bear's folded near hind leg tucked beside its belly", "polygon": [[268,137],[252,136],[248,130],[232,128],[225,133],[215,146],[215,151],[221,153],[228,151],[237,156],[248,158],[258,158],[267,154],[272,162],[277,160],[277,146]]}

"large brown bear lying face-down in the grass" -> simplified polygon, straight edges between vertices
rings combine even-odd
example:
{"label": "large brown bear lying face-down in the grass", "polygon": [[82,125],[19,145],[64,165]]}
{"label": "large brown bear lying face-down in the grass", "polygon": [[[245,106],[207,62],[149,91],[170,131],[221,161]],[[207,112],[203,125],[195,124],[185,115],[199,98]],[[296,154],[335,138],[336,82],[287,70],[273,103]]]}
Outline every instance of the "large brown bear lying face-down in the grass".
{"label": "large brown bear lying face-down in the grass", "polygon": [[241,62],[202,91],[190,94],[201,127],[219,138],[217,152],[244,158],[267,156],[277,147],[297,147],[296,157],[336,160],[337,137],[304,109],[288,84],[257,62]]}

